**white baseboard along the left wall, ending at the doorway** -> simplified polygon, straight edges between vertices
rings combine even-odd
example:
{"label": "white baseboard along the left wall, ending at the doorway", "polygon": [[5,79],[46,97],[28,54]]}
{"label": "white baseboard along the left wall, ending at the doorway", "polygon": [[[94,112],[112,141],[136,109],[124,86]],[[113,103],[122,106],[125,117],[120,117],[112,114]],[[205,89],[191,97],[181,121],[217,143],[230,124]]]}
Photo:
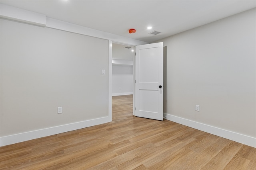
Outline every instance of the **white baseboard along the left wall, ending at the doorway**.
{"label": "white baseboard along the left wall, ending at the doorway", "polygon": [[46,129],[39,129],[36,131],[30,131],[30,132],[0,137],[0,147],[5,145],[11,145],[14,143],[24,142],[32,139],[37,139],[40,137],[56,135],[58,133],[74,131],[77,129],[82,129],[82,128],[90,127],[94,125],[100,125],[100,124],[108,123],[111,121],[112,121],[112,117],[101,117],[98,119],[86,120],[86,121],[81,121],[76,123],[70,123],[67,125],[60,125],[56,127],[50,127]]}

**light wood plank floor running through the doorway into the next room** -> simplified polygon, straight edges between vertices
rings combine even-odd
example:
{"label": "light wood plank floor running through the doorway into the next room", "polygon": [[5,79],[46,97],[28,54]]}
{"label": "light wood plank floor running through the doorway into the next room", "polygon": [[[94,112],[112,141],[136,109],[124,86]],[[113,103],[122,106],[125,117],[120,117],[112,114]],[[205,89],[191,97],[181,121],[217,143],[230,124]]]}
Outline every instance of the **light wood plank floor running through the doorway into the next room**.
{"label": "light wood plank floor running through the doorway into the next room", "polygon": [[172,121],[132,115],[113,97],[113,121],[0,147],[0,169],[256,170],[256,148]]}

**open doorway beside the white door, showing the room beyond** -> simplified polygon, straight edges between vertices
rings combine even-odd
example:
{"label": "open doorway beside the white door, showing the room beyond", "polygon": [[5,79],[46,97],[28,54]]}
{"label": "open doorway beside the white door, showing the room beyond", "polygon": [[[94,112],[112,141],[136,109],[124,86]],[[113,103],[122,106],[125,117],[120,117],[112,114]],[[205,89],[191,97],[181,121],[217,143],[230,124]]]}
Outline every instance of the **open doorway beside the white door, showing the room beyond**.
{"label": "open doorway beside the white door, showing the room beyond", "polygon": [[135,47],[112,43],[112,121],[133,114]]}

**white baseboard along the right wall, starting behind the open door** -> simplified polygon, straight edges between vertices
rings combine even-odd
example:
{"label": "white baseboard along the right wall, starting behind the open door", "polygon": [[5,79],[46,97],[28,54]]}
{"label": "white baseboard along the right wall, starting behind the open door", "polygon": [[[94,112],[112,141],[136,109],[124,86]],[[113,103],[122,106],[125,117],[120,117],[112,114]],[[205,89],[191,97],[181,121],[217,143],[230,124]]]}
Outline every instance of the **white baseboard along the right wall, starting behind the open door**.
{"label": "white baseboard along the right wall, starting behind the open door", "polygon": [[[166,117],[165,117],[166,116]],[[256,138],[164,113],[165,119],[256,148]]]}

